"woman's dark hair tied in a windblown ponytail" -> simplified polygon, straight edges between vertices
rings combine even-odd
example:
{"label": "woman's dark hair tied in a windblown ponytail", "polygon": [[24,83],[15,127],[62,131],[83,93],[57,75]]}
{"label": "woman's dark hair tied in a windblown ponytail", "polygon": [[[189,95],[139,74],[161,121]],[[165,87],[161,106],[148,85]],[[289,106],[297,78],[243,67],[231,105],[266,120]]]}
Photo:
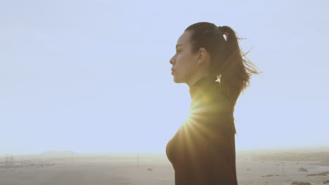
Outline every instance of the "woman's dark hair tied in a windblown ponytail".
{"label": "woman's dark hair tied in a windblown ponytail", "polygon": [[250,76],[261,72],[245,57],[247,53],[241,52],[236,32],[231,27],[198,22],[185,31],[191,31],[192,53],[200,48],[209,53],[209,74],[219,78],[220,90],[228,98],[233,113],[240,93],[250,85]]}

